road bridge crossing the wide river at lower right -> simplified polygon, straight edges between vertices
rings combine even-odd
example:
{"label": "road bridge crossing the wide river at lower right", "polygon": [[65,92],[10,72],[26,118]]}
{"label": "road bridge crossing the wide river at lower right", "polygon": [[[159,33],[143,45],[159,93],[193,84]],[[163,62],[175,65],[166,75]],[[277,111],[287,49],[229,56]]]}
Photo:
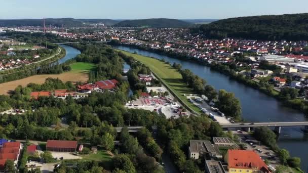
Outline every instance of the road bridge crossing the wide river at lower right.
{"label": "road bridge crossing the wide river at lower right", "polygon": [[303,122],[244,122],[244,123],[231,123],[231,124],[220,124],[222,128],[247,128],[250,132],[251,127],[275,127],[275,132],[281,133],[281,127],[294,127],[304,126],[304,131],[308,132],[308,121]]}

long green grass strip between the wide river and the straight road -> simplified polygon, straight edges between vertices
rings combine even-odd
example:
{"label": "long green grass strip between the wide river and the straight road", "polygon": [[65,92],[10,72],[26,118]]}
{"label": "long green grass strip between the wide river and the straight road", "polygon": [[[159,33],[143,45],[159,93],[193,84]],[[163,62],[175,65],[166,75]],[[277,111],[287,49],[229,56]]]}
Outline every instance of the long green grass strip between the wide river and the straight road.
{"label": "long green grass strip between the wide river and the straight road", "polygon": [[[121,51],[121,50],[118,50]],[[131,54],[125,51],[121,51],[122,53],[134,57],[139,62],[147,65],[151,71],[157,74],[167,85],[169,88],[179,97],[181,98],[186,105],[188,105],[191,109],[195,110],[198,113],[202,113],[201,110],[195,106],[193,103],[188,102],[187,98],[184,94],[195,94],[194,91],[187,86],[186,83],[182,81],[182,75],[172,68],[169,64],[165,62],[159,61],[154,58],[149,58],[141,55]]]}

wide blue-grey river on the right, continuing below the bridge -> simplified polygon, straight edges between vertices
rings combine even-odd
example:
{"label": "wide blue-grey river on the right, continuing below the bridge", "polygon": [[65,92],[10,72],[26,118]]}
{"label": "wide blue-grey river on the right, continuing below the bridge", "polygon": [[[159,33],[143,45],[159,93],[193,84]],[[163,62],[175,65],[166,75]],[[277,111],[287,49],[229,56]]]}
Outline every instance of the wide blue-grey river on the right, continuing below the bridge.
{"label": "wide blue-grey river on the right, continuing below the bridge", "polygon": [[[131,53],[136,52],[143,56],[165,59],[165,61],[171,64],[174,62],[179,63],[183,68],[190,69],[198,76],[204,78],[207,83],[213,85],[216,90],[224,89],[228,92],[235,93],[236,97],[241,101],[242,116],[246,121],[308,121],[308,118],[305,118],[301,112],[286,108],[276,99],[236,80],[229,79],[228,76],[211,70],[210,67],[125,46],[114,46],[114,48]],[[307,169],[308,151],[305,149],[308,148],[308,135],[304,134],[299,127],[282,127],[278,145],[281,148],[287,149],[291,156],[300,157],[302,170]]]}

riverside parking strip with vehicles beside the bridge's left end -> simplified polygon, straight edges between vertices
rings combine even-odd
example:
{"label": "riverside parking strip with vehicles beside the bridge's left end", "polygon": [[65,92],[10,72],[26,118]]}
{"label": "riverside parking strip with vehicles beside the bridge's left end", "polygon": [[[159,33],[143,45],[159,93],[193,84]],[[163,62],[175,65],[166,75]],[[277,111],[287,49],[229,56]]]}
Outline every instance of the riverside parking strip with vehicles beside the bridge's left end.
{"label": "riverside parking strip with vehicles beside the bridge's left end", "polygon": [[191,102],[193,104],[195,104],[197,107],[204,108],[207,110],[208,113],[213,114],[214,118],[217,120],[218,123],[223,123],[223,124],[227,124],[227,123],[231,123],[226,117],[222,117],[220,115],[218,115],[218,113],[216,111],[213,111],[211,109],[211,106],[205,102],[205,101],[201,101],[201,102],[197,102],[196,99],[200,99],[203,100],[201,97],[199,96],[187,96],[187,99],[191,99]]}

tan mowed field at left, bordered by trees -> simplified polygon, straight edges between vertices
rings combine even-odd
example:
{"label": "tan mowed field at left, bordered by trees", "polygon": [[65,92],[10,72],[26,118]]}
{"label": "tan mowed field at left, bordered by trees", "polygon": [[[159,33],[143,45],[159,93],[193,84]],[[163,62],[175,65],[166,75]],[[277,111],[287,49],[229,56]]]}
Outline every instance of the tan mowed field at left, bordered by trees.
{"label": "tan mowed field at left, bordered by trees", "polygon": [[61,73],[61,74],[40,74],[34,75],[30,77],[26,77],[19,80],[9,81],[6,83],[0,83],[0,94],[8,95],[8,92],[15,90],[18,85],[26,86],[28,83],[44,83],[45,79],[48,77],[59,78],[63,82],[66,81],[82,81],[86,82],[89,79],[88,72],[71,70],[69,72]]}

